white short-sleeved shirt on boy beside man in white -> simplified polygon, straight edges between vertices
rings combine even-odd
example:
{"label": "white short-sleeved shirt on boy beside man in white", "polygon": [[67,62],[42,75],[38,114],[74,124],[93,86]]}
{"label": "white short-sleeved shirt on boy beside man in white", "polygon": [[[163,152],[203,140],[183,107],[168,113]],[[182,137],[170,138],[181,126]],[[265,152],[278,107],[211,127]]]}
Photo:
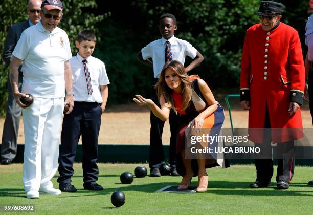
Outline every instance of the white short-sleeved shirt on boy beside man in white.
{"label": "white short-sleeved shirt on boy beside man in white", "polygon": [[73,77],[74,101],[102,103],[103,100],[101,97],[100,86],[110,83],[106,74],[104,63],[93,56],[86,58],[87,68],[90,73],[93,88],[92,95],[88,95],[86,76],[82,63],[83,59],[84,58],[82,58],[78,53],[70,59]]}

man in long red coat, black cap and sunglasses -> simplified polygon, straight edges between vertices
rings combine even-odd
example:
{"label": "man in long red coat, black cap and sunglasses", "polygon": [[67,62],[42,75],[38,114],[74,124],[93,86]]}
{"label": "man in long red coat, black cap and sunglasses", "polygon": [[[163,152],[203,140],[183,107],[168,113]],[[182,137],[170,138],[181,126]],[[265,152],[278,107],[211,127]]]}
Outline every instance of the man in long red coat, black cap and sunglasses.
{"label": "man in long red coat, black cap and sunglasses", "polygon": [[295,168],[294,140],[303,137],[299,106],[304,62],[298,32],[280,22],[282,8],[281,3],[261,2],[260,24],[247,30],[242,50],[240,102],[249,110],[249,139],[261,149],[251,188],[271,184],[273,141],[277,143],[277,188],[288,189]]}

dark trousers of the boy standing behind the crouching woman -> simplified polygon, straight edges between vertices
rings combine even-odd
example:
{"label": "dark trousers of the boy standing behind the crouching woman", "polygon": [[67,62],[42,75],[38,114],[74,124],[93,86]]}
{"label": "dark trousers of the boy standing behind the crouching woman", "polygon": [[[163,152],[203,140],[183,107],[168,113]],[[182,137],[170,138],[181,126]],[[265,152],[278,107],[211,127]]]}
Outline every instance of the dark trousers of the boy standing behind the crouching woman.
{"label": "dark trousers of the boy standing behind the crouching woman", "polygon": [[[157,82],[158,79],[154,79],[154,83]],[[152,100],[155,104],[159,104],[159,99],[157,96],[157,92],[152,87],[151,91]],[[169,147],[169,163],[172,167],[175,167],[175,154],[176,154],[176,136],[177,136],[177,122],[178,116],[176,113],[171,110],[169,115],[169,124],[171,130],[170,137],[170,147]],[[162,163],[164,163],[165,156],[162,145],[162,133],[164,122],[158,117],[154,116],[152,111],[150,112],[150,156],[149,156],[149,167],[150,168],[159,168]]]}

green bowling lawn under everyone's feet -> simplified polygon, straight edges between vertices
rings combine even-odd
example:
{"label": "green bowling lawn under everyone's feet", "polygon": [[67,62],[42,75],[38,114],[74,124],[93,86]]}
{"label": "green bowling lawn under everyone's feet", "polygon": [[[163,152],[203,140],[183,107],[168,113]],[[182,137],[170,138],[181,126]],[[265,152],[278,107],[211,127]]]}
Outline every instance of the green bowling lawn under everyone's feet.
{"label": "green bowling lawn under everyone's feet", "polygon": [[[307,185],[313,180],[313,167],[296,166],[288,190],[276,190],[276,183],[270,188],[250,189],[249,183],[255,180],[254,165],[215,167],[208,170],[208,192],[176,194],[155,191],[166,185],[177,185],[181,177],[135,178],[132,184],[121,184],[120,174],[133,172],[136,166],[138,164],[99,164],[98,183],[105,189],[95,192],[82,189],[81,164],[75,164],[72,184],[78,189],[76,193],[40,194],[40,199],[27,199],[22,183],[23,166],[1,165],[0,205],[34,204],[36,213],[40,214],[311,214],[313,211],[313,187]],[[57,176],[53,178],[55,188],[58,187],[56,179]],[[273,179],[275,182],[275,177]],[[196,181],[194,178],[192,185],[196,185]],[[126,195],[126,203],[120,208],[110,202],[111,193],[116,190]]]}

